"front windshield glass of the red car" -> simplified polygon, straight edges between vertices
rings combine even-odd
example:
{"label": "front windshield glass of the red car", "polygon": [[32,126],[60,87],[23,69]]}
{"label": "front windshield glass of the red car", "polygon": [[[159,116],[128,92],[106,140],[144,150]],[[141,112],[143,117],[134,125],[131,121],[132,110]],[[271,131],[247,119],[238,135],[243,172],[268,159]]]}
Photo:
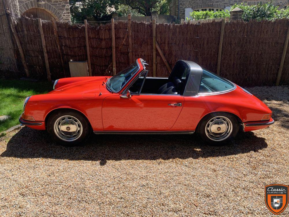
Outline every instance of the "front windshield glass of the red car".
{"label": "front windshield glass of the red car", "polygon": [[112,91],[112,92],[118,92],[120,91],[125,84],[138,72],[139,67],[135,63],[131,64],[128,68],[124,69],[123,71],[120,71],[115,76],[111,77],[107,82],[106,86]]}

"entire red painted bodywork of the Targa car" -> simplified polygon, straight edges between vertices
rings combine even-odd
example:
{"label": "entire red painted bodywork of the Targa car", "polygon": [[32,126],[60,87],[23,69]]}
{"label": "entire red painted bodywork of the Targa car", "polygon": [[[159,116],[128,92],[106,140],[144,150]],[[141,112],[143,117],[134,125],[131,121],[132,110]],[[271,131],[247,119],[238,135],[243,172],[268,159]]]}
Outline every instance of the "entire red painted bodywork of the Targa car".
{"label": "entire red painted bodywork of the Targa car", "polygon": [[[140,59],[137,61],[140,72],[143,67]],[[243,123],[265,123],[261,121],[264,114],[272,113],[262,101],[238,86],[231,92],[216,95],[143,94],[121,98],[120,93],[129,84],[118,93],[111,93],[104,84],[107,78],[64,78],[58,81],[54,91],[33,95],[24,114],[32,116],[42,126],[29,127],[45,130],[47,115],[61,108],[84,114],[94,131],[190,131],[196,129],[205,115],[216,111],[232,113]],[[172,103],[182,103],[182,106],[168,106]],[[262,128],[266,126],[245,127],[244,131]]]}

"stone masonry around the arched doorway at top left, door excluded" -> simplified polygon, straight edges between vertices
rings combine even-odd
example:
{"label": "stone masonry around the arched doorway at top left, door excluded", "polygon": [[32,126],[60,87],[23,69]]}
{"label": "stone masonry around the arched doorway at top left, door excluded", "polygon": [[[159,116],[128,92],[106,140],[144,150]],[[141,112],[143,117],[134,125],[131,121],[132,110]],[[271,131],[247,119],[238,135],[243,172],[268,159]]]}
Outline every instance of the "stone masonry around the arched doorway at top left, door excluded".
{"label": "stone masonry around the arched doorway at top left, door excluded", "polygon": [[39,4],[37,0],[18,0],[20,15],[31,8],[42,8],[53,15],[57,21],[71,21],[69,1],[45,0]]}

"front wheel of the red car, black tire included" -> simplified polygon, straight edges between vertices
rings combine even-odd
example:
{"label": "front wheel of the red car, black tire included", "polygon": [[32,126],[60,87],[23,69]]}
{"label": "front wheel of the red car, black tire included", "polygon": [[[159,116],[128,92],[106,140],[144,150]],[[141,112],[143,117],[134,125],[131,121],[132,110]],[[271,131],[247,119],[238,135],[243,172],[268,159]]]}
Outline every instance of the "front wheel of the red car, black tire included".
{"label": "front wheel of the red car, black tire included", "polygon": [[[69,124],[67,124],[68,122]],[[63,146],[77,146],[88,139],[91,127],[81,113],[69,109],[59,109],[49,116],[47,131],[56,143]]]}

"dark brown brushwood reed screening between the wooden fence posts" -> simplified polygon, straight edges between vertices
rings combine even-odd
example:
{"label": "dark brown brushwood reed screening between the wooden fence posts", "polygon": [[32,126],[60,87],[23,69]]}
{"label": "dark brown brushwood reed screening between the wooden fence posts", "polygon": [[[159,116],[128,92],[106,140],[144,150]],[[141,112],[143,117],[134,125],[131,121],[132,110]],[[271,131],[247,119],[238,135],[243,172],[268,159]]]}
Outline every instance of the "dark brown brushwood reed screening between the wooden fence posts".
{"label": "dark brown brushwood reed screening between the wooden fence posts", "polygon": [[[52,80],[69,77],[70,60],[87,60],[85,27],[82,24],[56,22],[64,68],[51,21],[42,21],[47,56]],[[220,75],[242,86],[274,85],[281,62],[289,22],[276,21],[234,21],[226,22]],[[152,23],[131,23],[132,50],[129,51],[127,21],[116,21],[115,47],[116,72],[129,65],[132,59],[147,61],[149,76],[153,76],[153,31]],[[25,62],[32,78],[46,79],[45,61],[38,22],[21,17],[15,29],[21,42]],[[92,76],[112,75],[112,35],[111,23],[88,25],[88,41]],[[170,67],[177,60],[191,60],[200,66],[216,72],[221,34],[221,21],[209,23],[156,24],[156,42]],[[24,70],[15,43],[15,57],[19,73]],[[285,56],[280,84],[289,84],[289,54]],[[1,63],[0,63],[1,64]],[[156,76],[170,74],[163,58],[156,50]],[[6,76],[9,76],[6,74]]]}

